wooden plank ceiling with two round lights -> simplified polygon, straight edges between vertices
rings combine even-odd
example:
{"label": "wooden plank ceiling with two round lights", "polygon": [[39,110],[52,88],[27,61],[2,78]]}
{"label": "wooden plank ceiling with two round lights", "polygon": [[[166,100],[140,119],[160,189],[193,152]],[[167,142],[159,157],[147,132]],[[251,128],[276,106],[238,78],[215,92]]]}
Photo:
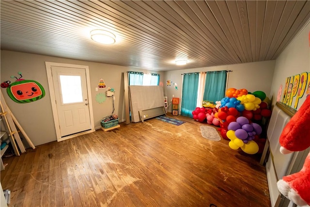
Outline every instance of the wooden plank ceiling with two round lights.
{"label": "wooden plank ceiling with two round lights", "polygon": [[1,49],[161,71],[274,60],[310,19],[309,0],[0,2]]}

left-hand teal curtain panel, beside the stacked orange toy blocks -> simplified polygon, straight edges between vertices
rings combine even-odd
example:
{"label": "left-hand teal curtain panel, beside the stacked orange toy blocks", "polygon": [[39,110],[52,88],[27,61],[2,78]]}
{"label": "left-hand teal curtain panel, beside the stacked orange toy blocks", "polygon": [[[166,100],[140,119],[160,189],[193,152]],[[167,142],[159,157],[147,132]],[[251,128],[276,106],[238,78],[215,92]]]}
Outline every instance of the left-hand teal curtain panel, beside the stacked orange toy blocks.
{"label": "left-hand teal curtain panel, beside the stacked orange toy blocks", "polygon": [[186,73],[183,77],[181,115],[193,117],[196,109],[199,73]]}

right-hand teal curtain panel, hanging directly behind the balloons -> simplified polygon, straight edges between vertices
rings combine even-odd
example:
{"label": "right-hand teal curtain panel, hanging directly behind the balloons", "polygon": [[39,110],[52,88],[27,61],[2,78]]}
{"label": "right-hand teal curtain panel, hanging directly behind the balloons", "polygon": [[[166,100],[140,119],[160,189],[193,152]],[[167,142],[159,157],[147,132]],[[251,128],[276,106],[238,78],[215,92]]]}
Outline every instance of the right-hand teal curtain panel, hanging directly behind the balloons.
{"label": "right-hand teal curtain panel, hanging directly behind the balloons", "polygon": [[215,103],[225,97],[226,76],[226,70],[207,72],[203,100]]}

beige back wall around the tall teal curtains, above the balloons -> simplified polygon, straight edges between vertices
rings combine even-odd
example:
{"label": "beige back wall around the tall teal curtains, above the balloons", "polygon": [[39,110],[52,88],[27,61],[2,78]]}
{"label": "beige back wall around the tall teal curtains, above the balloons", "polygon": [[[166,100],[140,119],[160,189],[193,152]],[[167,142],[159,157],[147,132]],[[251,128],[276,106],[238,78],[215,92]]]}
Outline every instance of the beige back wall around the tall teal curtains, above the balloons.
{"label": "beige back wall around the tall teal curtains, above the balloons", "polygon": [[[227,88],[247,89],[249,92],[263,91],[266,95],[269,94],[271,89],[272,77],[274,73],[276,61],[262,61],[245,64],[230,64],[220,65],[213,67],[192,68],[184,70],[173,70],[165,72],[165,80],[171,80],[171,86],[164,84],[164,94],[168,96],[170,101],[172,95],[174,97],[180,97],[182,95],[182,78],[181,74],[191,72],[203,72],[203,71],[219,71],[219,70],[231,70],[229,72],[229,79]],[[173,87],[173,83],[176,82],[178,90]],[[168,111],[171,111],[171,106]]]}

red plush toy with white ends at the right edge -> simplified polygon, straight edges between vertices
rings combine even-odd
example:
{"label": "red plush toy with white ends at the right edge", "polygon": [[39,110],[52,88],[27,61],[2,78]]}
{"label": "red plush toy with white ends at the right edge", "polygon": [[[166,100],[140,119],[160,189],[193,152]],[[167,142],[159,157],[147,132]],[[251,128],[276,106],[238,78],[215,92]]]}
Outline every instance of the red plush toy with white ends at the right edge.
{"label": "red plush toy with white ends at the right edge", "polygon": [[[279,138],[280,152],[303,151],[310,146],[310,96],[284,127]],[[279,191],[298,206],[310,205],[310,153],[301,171],[283,176]]]}

